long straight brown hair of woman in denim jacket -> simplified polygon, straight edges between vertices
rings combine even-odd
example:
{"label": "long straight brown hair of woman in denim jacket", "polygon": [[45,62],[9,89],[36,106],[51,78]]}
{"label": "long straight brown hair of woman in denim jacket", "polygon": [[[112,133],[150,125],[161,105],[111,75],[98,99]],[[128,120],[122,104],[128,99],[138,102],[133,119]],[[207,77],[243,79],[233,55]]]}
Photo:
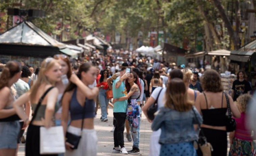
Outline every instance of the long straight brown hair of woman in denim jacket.
{"label": "long straight brown hair of woman in denim jacket", "polygon": [[165,92],[165,107],[172,108],[179,112],[186,112],[192,109],[193,102],[188,100],[187,88],[180,78],[171,79]]}

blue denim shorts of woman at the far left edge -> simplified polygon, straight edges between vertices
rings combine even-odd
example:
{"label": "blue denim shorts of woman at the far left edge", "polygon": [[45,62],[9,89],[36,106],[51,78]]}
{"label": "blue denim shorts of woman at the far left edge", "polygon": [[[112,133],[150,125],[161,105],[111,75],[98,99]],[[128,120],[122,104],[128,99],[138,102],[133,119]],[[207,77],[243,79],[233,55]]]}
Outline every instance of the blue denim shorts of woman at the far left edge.
{"label": "blue denim shorts of woman at the far left edge", "polygon": [[0,149],[16,149],[19,132],[19,121],[0,122]]}

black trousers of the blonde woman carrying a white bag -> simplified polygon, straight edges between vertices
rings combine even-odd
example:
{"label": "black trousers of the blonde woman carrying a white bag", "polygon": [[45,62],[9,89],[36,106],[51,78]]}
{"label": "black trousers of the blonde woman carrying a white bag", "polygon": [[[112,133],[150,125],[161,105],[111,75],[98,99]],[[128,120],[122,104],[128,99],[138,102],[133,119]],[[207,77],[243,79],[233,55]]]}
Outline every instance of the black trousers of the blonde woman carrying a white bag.
{"label": "black trousers of the blonde woman carrying a white bag", "polygon": [[[57,154],[40,154],[40,127],[29,125],[26,138],[26,156],[57,156]],[[47,136],[45,136],[47,137]]]}

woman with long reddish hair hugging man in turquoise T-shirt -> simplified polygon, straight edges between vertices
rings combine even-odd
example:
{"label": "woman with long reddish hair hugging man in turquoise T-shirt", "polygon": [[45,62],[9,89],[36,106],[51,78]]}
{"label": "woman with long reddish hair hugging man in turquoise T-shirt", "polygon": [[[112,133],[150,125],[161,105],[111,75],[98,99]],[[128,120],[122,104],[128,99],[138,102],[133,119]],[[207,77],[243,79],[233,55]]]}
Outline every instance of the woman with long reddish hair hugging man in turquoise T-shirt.
{"label": "woman with long reddish hair hugging man in turquoise T-shirt", "polygon": [[136,72],[132,71],[130,76],[125,81],[125,87],[128,94],[120,98],[114,98],[113,103],[117,101],[124,101],[128,99],[128,107],[126,111],[126,119],[129,121],[131,133],[133,136],[133,149],[128,151],[129,154],[140,153],[139,139],[140,139],[140,110],[137,100],[140,98],[141,86],[139,77]]}

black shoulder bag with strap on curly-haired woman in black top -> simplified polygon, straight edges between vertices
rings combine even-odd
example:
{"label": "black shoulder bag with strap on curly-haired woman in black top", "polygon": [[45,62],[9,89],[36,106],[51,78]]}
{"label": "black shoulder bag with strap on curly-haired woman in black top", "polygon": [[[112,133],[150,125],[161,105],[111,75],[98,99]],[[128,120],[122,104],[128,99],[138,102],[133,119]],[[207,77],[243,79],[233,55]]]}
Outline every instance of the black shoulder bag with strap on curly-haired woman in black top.
{"label": "black shoulder bag with strap on curly-haired woman in black top", "polygon": [[226,119],[226,130],[227,130],[227,132],[232,132],[236,129],[236,121],[235,121],[235,119],[232,118],[232,115],[231,115],[228,95],[225,92],[224,92],[224,94],[225,94],[225,97],[227,100],[227,108],[228,108],[228,115],[226,115],[226,118],[227,118]]}

